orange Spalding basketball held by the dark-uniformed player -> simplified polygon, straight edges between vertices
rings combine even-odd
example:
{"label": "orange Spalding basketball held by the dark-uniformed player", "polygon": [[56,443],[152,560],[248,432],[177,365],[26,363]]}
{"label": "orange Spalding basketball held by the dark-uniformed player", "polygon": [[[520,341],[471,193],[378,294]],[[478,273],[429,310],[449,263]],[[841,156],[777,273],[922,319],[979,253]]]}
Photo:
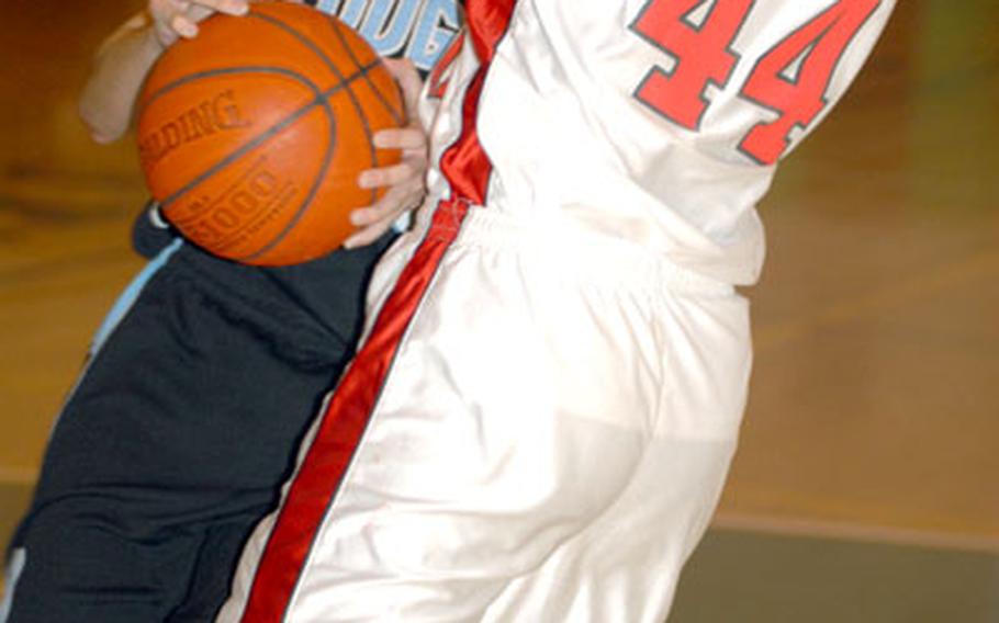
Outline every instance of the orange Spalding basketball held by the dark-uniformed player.
{"label": "orange Spalding basketball held by the dark-uniformed player", "polygon": [[378,54],[336,18],[301,4],[216,14],[170,46],[137,103],[139,161],[162,215],[218,257],[285,265],[353,233],[381,190],[361,171],[400,159],[372,135],[405,124]]}

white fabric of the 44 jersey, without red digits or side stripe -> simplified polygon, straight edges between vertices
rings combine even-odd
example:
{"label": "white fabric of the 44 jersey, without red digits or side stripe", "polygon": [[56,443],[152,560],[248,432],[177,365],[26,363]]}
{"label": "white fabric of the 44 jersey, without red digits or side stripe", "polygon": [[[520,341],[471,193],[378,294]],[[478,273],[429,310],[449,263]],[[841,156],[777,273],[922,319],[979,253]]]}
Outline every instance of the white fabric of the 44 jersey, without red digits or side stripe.
{"label": "white fabric of the 44 jersey, without red digits or side stripe", "polygon": [[[883,30],[894,1],[877,0],[534,0],[517,2],[507,36],[489,70],[476,128],[493,166],[490,207],[512,217],[569,219],[632,240],[670,261],[726,283],[750,285],[764,257],[756,203],[775,167],[740,150],[756,124],[774,111],[743,92],[757,61],[830,8],[857,7],[869,15],[852,32],[835,69],[818,81],[826,104],[807,128],[795,127],[787,154],[843,95]],[[651,70],[676,70],[675,57],[636,30],[638,16],[660,4],[692,7],[705,20],[708,7],[747,5],[731,49],[738,55],[727,86],[705,87],[710,104],[696,131],[667,121],[635,92]],[[839,16],[839,22],[848,22]],[[848,26],[849,27],[849,26]],[[828,41],[834,43],[835,37]],[[699,45],[704,45],[698,42]],[[807,52],[809,48],[804,48]],[[696,63],[692,55],[685,57]],[[707,52],[707,50],[704,50]],[[796,78],[801,64],[784,71]],[[817,59],[816,65],[820,65]],[[454,80],[470,79],[478,60],[471,46],[454,64]],[[460,129],[462,91],[452,89],[435,125],[434,145],[445,149]],[[795,93],[779,94],[790,100]],[[439,156],[439,154],[438,154]],[[447,180],[431,177],[438,194]]]}

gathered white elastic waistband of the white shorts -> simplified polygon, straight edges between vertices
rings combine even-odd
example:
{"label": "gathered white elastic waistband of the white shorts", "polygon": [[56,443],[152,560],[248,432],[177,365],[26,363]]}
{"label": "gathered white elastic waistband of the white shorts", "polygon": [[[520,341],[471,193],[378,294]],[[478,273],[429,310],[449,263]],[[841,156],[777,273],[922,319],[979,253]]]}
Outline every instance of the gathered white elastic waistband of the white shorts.
{"label": "gathered white elastic waistband of the white shorts", "polygon": [[736,288],[670,261],[630,240],[551,220],[523,220],[492,207],[471,206],[456,246],[530,252],[594,282],[727,296]]}

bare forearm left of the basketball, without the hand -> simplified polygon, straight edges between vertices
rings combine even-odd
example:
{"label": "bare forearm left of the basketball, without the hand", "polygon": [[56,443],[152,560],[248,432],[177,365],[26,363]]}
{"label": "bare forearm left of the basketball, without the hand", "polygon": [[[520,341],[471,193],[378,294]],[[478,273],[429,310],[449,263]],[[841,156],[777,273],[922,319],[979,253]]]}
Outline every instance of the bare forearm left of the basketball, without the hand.
{"label": "bare forearm left of the basketball, without the hand", "polygon": [[94,140],[111,143],[127,132],[143,80],[162,49],[151,21],[141,13],[98,50],[79,102],[80,116]]}

